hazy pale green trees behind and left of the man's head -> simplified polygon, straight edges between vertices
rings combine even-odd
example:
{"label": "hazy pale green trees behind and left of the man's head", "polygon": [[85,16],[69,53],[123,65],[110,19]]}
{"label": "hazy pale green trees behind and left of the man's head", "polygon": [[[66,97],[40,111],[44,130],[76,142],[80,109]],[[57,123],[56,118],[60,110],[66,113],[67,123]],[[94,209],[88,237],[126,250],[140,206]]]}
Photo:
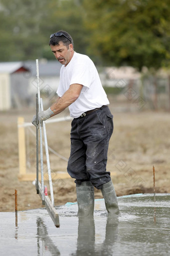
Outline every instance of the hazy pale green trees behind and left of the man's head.
{"label": "hazy pale green trees behind and left of the man's head", "polygon": [[0,61],[53,59],[48,41],[58,30],[85,53],[83,15],[80,0],[0,0]]}

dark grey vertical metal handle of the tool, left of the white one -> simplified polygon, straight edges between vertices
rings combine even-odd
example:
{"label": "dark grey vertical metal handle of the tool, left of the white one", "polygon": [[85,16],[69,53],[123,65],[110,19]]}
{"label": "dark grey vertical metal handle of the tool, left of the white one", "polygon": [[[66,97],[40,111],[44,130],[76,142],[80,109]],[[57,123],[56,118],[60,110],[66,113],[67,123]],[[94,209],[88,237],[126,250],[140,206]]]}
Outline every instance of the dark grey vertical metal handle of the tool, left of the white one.
{"label": "dark grey vertical metal handle of the tool, left of the white one", "polygon": [[[38,94],[36,93],[36,125],[38,125]],[[36,126],[36,194],[39,194],[39,188],[38,188],[38,165],[39,165],[39,159],[38,159],[38,151],[39,151],[39,145],[38,145],[38,127]]]}

